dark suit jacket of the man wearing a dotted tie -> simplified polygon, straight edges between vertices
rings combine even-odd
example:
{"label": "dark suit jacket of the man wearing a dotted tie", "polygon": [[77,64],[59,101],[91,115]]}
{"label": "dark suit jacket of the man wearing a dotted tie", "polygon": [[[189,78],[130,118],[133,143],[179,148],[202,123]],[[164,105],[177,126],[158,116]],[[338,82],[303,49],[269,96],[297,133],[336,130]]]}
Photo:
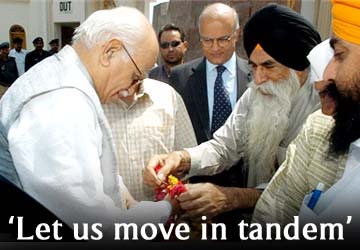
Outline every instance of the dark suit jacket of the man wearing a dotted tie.
{"label": "dark suit jacket of the man wearing a dotted tie", "polygon": [[[245,92],[250,80],[246,60],[236,58],[237,100]],[[171,71],[170,85],[179,92],[189,113],[198,144],[212,138],[209,127],[209,108],[206,85],[206,60],[198,58],[176,66]]]}

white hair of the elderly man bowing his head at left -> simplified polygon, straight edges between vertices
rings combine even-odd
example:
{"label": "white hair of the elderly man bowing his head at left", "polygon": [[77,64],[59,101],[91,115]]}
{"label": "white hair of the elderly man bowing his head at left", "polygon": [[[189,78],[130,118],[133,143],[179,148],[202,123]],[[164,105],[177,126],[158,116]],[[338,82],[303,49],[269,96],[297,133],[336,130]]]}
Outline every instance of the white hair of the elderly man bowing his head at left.
{"label": "white hair of the elderly man bowing his head at left", "polygon": [[118,37],[132,54],[136,43],[144,39],[145,16],[131,7],[99,10],[91,14],[74,32],[72,43],[91,50],[101,42]]}

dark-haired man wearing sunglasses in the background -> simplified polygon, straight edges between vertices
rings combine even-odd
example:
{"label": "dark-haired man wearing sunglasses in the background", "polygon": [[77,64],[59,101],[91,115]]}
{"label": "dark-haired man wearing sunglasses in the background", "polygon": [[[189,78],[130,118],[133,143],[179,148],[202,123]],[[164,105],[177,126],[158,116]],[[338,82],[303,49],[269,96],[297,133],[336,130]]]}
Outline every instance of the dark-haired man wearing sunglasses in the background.
{"label": "dark-haired man wearing sunglasses in the background", "polygon": [[163,64],[153,68],[149,72],[149,77],[169,83],[171,69],[184,63],[188,43],[185,41],[184,30],[173,23],[161,27],[158,40]]}

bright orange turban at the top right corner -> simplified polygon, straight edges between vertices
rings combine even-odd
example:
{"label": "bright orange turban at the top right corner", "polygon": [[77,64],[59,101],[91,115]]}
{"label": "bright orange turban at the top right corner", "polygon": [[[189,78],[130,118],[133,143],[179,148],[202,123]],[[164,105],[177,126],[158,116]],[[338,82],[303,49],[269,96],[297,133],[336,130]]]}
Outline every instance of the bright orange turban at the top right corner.
{"label": "bright orange turban at the top right corner", "polygon": [[333,32],[351,43],[360,45],[360,1],[332,0]]}

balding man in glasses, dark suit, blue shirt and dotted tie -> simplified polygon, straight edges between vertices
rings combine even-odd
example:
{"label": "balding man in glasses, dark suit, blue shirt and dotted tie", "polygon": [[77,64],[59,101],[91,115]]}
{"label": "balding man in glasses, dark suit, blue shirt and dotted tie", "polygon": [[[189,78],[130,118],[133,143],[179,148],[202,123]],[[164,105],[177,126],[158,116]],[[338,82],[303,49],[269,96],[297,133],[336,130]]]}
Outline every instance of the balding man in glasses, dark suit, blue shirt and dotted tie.
{"label": "balding man in glasses, dark suit, blue shirt and dotted tie", "polygon": [[[250,80],[247,61],[235,54],[240,25],[234,9],[220,3],[208,6],[199,17],[199,31],[204,57],[174,67],[170,83],[185,102],[198,144],[210,140],[216,129],[224,124]],[[215,107],[215,82],[219,65],[226,68],[222,80],[231,104],[230,110]],[[223,116],[217,120],[219,115]],[[229,171],[241,169],[232,168]],[[229,171],[215,176],[194,177],[191,182],[241,186],[241,174]]]}

